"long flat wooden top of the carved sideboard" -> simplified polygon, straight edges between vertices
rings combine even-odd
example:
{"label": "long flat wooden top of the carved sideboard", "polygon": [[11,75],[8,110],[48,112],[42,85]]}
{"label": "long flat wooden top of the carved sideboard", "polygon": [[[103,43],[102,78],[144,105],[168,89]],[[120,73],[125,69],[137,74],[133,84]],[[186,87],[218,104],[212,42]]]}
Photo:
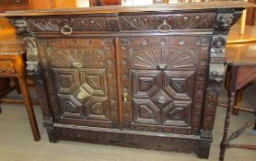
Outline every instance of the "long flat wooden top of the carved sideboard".
{"label": "long flat wooden top of the carved sideboard", "polygon": [[[140,1],[142,2],[142,1]],[[0,17],[18,16],[50,16],[50,15],[80,15],[80,14],[115,14],[125,12],[165,12],[179,10],[201,10],[217,8],[247,8],[255,5],[243,0],[169,0],[169,3],[123,3],[120,6],[88,6],[76,8],[51,8],[41,10],[6,11]]]}

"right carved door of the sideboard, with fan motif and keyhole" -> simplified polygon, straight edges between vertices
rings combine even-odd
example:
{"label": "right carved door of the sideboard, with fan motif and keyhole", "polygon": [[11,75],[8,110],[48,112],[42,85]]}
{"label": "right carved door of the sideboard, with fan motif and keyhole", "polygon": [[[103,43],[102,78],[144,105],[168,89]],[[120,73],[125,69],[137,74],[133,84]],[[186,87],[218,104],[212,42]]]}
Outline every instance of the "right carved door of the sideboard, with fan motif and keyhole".
{"label": "right carved door of the sideboard, with fan motif and keyhole", "polygon": [[120,39],[125,129],[199,132],[210,37]]}

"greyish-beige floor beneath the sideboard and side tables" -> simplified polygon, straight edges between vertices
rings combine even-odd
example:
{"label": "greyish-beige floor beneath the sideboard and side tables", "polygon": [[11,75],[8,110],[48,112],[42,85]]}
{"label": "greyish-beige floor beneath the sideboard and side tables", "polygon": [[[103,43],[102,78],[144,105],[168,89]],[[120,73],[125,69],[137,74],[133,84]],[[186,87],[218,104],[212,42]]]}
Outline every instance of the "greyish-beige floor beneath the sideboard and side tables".
{"label": "greyish-beige floor beneath the sideboard and side tables", "polygon": [[[246,90],[244,105],[256,105],[256,85]],[[254,95],[253,95],[254,92]],[[249,97],[250,96],[250,97]],[[253,98],[254,97],[254,98]],[[223,90],[220,101],[226,101]],[[41,141],[34,142],[29,128],[29,120],[23,105],[1,105],[3,113],[0,114],[0,161],[194,161],[201,160],[195,154],[169,153],[135,148],[124,148],[100,144],[84,144],[60,141],[51,144],[47,133],[42,126],[41,110],[36,107],[36,115],[41,131]],[[226,109],[218,108],[215,119],[214,143],[212,144],[209,160],[218,160],[219,144],[223,132]],[[249,120],[251,114],[240,112],[238,117],[233,117],[232,126],[242,124]],[[242,134],[236,142],[256,144],[256,135],[250,129]],[[254,161],[256,151],[227,149],[226,160]]]}

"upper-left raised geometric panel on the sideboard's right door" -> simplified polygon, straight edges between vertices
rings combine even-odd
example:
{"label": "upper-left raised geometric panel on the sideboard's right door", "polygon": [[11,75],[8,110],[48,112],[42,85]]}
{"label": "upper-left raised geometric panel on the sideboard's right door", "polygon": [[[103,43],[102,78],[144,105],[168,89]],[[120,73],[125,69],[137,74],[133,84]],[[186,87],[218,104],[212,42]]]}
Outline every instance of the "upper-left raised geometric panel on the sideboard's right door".
{"label": "upper-left raised geometric panel on the sideboard's right door", "polygon": [[160,71],[132,70],[134,98],[150,98],[160,87]]}

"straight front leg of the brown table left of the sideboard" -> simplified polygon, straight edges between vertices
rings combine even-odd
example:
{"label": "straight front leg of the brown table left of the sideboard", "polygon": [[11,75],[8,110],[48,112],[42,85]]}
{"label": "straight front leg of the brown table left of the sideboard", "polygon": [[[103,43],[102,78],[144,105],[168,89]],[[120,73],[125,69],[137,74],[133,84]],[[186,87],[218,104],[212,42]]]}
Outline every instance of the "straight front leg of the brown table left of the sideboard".
{"label": "straight front leg of the brown table left of the sideboard", "polygon": [[26,79],[22,76],[18,76],[18,83],[19,83],[21,93],[22,93],[22,97],[23,97],[23,100],[24,100],[24,103],[26,105],[26,109],[27,109],[27,112],[28,112],[30,127],[31,127],[31,130],[33,132],[34,140],[35,141],[40,141],[41,136],[40,136],[40,132],[39,132],[39,129],[38,129],[38,124],[37,124],[37,121],[36,121],[34,109],[32,107],[32,101],[31,101],[31,98],[29,96],[29,86],[26,82]]}

